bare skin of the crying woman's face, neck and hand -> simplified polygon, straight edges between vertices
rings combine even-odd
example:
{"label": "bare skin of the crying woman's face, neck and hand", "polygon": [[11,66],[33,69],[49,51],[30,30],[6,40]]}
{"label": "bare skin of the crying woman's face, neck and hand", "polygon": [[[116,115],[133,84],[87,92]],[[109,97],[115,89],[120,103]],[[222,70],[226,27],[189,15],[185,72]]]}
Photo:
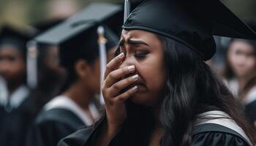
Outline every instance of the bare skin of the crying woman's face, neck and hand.
{"label": "bare skin of the crying woman's face, neck and hand", "polygon": [[[107,65],[102,93],[105,99],[107,123],[97,139],[97,145],[108,145],[127,118],[124,102],[131,99],[154,109],[159,117],[159,103],[165,86],[164,50],[156,34],[147,31],[122,31],[121,54]],[[120,79],[121,80],[118,80]],[[124,92],[120,92],[123,91]],[[162,129],[154,126],[149,145],[159,145]]]}

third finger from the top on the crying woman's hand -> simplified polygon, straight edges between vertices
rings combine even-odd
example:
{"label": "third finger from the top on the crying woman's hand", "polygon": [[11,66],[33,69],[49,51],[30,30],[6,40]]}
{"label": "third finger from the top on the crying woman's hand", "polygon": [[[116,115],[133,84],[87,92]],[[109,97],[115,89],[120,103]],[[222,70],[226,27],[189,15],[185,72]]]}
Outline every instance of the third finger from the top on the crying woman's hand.
{"label": "third finger from the top on the crying woman's hand", "polygon": [[120,93],[120,91],[124,90],[124,88],[127,88],[129,85],[132,85],[132,83],[138,80],[138,78],[139,76],[138,74],[136,74],[132,77],[127,77],[124,80],[120,80],[116,82],[110,87],[109,89],[110,94],[113,96],[116,96],[118,93]]}

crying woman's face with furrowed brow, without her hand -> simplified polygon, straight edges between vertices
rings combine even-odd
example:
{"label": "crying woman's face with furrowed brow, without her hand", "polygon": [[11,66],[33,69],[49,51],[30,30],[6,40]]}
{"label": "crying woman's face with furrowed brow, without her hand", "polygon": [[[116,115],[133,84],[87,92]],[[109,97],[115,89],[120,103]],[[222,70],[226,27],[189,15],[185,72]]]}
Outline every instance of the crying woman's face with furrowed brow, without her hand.
{"label": "crying woman's face with furrowed brow, without her hand", "polygon": [[132,85],[138,85],[138,92],[131,100],[136,104],[158,105],[164,95],[166,73],[164,50],[157,35],[147,31],[123,30],[119,50],[125,54],[119,68],[134,65],[135,74],[139,75],[139,80]]}

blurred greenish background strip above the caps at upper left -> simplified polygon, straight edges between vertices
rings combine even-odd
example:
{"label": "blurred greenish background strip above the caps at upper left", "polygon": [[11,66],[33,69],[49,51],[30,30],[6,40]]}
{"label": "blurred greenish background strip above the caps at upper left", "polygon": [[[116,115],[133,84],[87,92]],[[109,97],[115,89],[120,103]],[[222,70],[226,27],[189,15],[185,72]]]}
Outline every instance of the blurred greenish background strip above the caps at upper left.
{"label": "blurred greenish background strip above the caps at upper left", "polygon": [[40,20],[66,18],[91,2],[118,3],[120,0],[0,0],[0,25],[25,26]]}

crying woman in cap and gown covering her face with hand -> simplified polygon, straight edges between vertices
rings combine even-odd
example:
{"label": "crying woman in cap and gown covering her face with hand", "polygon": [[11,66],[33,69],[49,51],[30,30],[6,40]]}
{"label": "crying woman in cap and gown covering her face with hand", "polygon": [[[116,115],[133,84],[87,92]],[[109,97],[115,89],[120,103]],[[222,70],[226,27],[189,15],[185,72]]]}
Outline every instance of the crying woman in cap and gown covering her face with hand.
{"label": "crying woman in cap and gown covering her face with hand", "polygon": [[238,102],[205,63],[216,49],[211,33],[255,37],[241,20],[219,1],[148,0],[123,28],[105,71],[106,115],[59,145],[255,145]]}

